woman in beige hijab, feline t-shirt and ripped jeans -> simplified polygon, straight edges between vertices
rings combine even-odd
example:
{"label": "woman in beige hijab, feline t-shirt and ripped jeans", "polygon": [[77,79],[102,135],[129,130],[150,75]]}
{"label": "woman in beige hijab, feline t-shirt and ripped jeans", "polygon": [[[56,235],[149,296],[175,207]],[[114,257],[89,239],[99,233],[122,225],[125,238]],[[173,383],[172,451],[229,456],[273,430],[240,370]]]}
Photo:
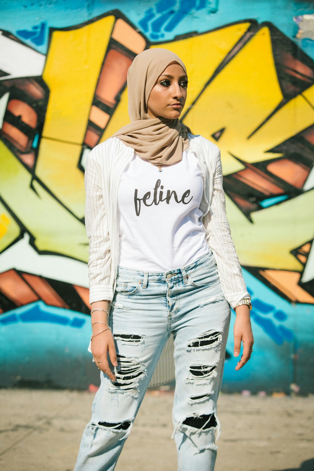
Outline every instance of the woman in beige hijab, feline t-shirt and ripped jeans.
{"label": "woman in beige hijab, feline t-shirt and ripped jeans", "polygon": [[170,336],[178,470],[211,471],[230,306],[235,356],[243,342],[236,370],[253,345],[220,152],[178,119],[187,72],[176,54],[141,52],[127,84],[131,122],[91,151],[85,169],[90,349],[101,386],[75,471],[114,469]]}

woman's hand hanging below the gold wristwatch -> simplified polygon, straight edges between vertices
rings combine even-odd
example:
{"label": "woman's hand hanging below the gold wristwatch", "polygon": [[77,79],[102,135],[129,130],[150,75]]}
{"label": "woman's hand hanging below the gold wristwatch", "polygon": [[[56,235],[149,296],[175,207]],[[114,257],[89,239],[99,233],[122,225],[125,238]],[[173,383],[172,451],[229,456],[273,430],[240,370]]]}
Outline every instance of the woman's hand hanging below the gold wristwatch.
{"label": "woman's hand hanging below the gold wristwatch", "polygon": [[235,367],[235,370],[238,371],[245,365],[245,363],[250,360],[252,351],[253,351],[253,333],[250,320],[250,309],[249,306],[245,304],[235,308],[236,319],[233,326],[233,335],[234,335],[234,356],[238,357],[241,350],[241,341],[243,342],[243,353],[241,360],[238,361],[238,364]]}

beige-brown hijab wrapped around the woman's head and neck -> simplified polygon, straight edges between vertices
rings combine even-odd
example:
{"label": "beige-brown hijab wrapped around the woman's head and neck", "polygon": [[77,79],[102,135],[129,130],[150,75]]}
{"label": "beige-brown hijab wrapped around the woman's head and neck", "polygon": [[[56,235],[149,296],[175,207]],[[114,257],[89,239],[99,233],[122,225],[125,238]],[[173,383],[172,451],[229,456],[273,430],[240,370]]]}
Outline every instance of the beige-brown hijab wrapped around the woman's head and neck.
{"label": "beige-brown hijab wrapped around the woman's head and neck", "polygon": [[187,133],[191,130],[178,118],[151,118],[147,113],[150,92],[158,77],[173,61],[182,65],[186,73],[180,57],[168,49],[146,49],[135,57],[127,75],[131,122],[111,136],[133,147],[141,159],[153,165],[179,162],[183,151],[189,146]]}

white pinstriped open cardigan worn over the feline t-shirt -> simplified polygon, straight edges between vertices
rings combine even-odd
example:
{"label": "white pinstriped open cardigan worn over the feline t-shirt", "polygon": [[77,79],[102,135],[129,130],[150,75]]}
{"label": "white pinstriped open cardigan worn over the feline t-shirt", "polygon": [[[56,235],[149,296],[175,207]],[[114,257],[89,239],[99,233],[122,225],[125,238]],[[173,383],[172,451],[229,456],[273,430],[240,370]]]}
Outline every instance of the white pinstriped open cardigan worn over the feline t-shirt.
{"label": "white pinstriped open cardigan worn over the feline t-shirt", "polygon": [[[187,152],[199,159],[204,191],[200,209],[207,242],[214,254],[222,291],[234,306],[242,298],[250,298],[242,269],[234,248],[225,212],[220,150],[213,142],[189,134]],[[116,286],[119,256],[117,224],[118,187],[121,174],[132,160],[134,149],[119,138],[108,138],[89,153],[85,166],[85,227],[89,237],[89,302],[109,300],[109,309]],[[109,310],[108,309],[108,310]],[[174,378],[173,340],[169,337],[150,385]],[[90,350],[90,345],[89,345]]]}

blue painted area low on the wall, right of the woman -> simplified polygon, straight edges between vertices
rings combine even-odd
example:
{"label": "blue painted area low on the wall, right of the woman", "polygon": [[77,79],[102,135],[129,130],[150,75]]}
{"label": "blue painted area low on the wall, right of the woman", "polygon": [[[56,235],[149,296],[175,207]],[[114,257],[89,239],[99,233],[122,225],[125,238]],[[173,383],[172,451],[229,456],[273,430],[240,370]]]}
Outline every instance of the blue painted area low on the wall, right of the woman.
{"label": "blue painted area low on the wall, right of the woman", "polygon": [[[254,351],[248,364],[239,371],[234,369],[239,357],[233,356],[233,327],[236,315],[232,310],[226,345],[231,357],[226,358],[225,362],[223,391],[284,390],[289,394],[289,385],[294,381],[294,374],[297,375],[302,393],[312,391],[313,380],[304,372],[308,371],[308,362],[311,362],[313,351],[313,305],[291,303],[243,267],[242,272],[252,301],[258,300],[258,307],[265,308],[263,303],[273,306],[274,310],[265,313],[253,308],[250,311]],[[267,323],[267,319],[270,322]],[[242,352],[243,345],[241,354]]]}

